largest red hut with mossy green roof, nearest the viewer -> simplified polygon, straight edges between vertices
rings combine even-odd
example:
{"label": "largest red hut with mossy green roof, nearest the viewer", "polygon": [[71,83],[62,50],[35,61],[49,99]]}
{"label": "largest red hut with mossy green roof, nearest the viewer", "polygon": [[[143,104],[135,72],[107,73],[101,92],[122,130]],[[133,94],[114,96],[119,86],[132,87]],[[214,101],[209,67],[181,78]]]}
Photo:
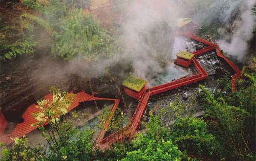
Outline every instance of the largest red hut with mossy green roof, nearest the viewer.
{"label": "largest red hut with mossy green roof, nearest the viewer", "polygon": [[137,100],[141,98],[146,90],[147,81],[134,75],[130,75],[122,85],[124,86],[124,93]]}

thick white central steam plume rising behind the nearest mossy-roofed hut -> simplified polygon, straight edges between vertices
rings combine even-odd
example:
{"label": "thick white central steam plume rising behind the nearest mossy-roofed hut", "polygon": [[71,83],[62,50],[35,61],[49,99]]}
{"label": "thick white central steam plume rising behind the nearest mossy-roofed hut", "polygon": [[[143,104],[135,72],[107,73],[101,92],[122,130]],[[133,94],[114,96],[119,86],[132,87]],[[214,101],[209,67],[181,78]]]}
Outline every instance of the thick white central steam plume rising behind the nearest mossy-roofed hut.
{"label": "thick white central steam plume rising behind the nearest mossy-roofed hut", "polygon": [[[174,32],[172,25],[176,24],[177,12],[176,7],[167,0],[140,0],[129,2],[125,7],[124,15],[127,20],[124,22],[124,33],[119,40],[123,42],[126,49],[126,58],[132,62],[134,74],[138,77],[146,79],[148,73],[160,73],[156,55],[160,55],[160,48],[166,48],[167,53],[163,55],[167,59],[171,59],[171,47],[174,41]],[[142,36],[143,31],[153,29],[158,22],[165,22],[170,25],[169,33],[158,38],[158,42],[152,46]],[[162,44],[164,39],[170,42]]]}

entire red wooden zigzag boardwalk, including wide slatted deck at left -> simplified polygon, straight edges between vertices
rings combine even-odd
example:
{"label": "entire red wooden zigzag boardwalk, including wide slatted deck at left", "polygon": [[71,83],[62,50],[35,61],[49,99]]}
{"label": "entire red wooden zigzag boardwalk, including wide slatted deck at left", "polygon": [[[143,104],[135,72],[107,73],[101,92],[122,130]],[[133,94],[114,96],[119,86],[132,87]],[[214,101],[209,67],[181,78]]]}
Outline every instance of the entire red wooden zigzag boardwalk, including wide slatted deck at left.
{"label": "entire red wooden zigzag boardwalk, including wide slatted deck at left", "polygon": [[[241,71],[239,70],[239,68],[237,68],[235,66],[235,64],[231,60],[227,59],[221,53],[221,51],[219,50],[218,45],[213,44],[213,43],[211,43],[207,40],[204,40],[202,38],[196,37],[195,35],[191,35],[191,34],[187,34],[187,33],[178,33],[178,35],[185,35],[187,37],[192,38],[193,40],[197,40],[198,42],[202,42],[202,43],[208,45],[208,47],[206,47],[206,48],[195,51],[194,52],[195,55],[200,55],[200,54],[206,53],[206,52],[211,51],[211,50],[216,50],[217,56],[223,58],[231,66],[231,68],[234,70],[234,75],[232,76],[231,84],[232,84],[232,90],[233,91],[236,90],[236,79],[240,78]],[[132,116],[132,119],[130,120],[128,125],[125,126],[124,128],[122,128],[121,130],[119,130],[119,131],[117,131],[113,134],[110,134],[106,138],[104,138],[104,135],[106,134],[109,122],[111,121],[111,119],[113,117],[113,114],[114,114],[114,112],[117,109],[117,106],[119,104],[118,99],[97,98],[97,97],[93,97],[92,95],[88,95],[84,91],[81,91],[81,92],[75,94],[75,100],[74,100],[74,102],[72,102],[70,104],[70,106],[68,108],[68,111],[76,108],[79,105],[79,102],[92,101],[92,100],[111,100],[111,101],[115,101],[115,104],[114,104],[114,106],[111,110],[111,114],[108,118],[108,121],[106,121],[106,123],[104,124],[104,126],[103,126],[103,128],[100,132],[100,135],[96,139],[96,142],[98,143],[98,146],[102,150],[106,150],[113,143],[123,141],[126,138],[131,139],[131,138],[134,137],[134,135],[136,134],[137,128],[139,127],[139,122],[140,122],[141,118],[144,115],[144,112],[145,112],[145,109],[147,107],[150,95],[156,95],[156,94],[168,91],[168,90],[172,90],[172,89],[175,89],[175,88],[178,88],[178,87],[182,87],[182,86],[185,86],[187,84],[191,84],[193,82],[198,82],[200,80],[206,79],[208,77],[208,74],[206,73],[204,68],[202,68],[202,66],[200,65],[200,63],[197,61],[197,59],[195,57],[192,59],[192,62],[193,62],[193,66],[197,70],[196,75],[192,75],[190,77],[175,80],[173,82],[161,84],[161,85],[155,86],[151,89],[147,89],[143,93],[143,95],[142,95],[142,97],[139,101],[139,104],[137,105],[137,108],[135,109],[134,115]],[[52,95],[48,94],[44,98],[48,99],[48,100],[52,100]],[[12,134],[3,135],[2,137],[0,137],[0,142],[4,142],[6,144],[9,144],[9,143],[12,142],[10,137],[22,137],[23,135],[26,135],[29,132],[31,132],[32,130],[34,130],[35,128],[37,128],[35,126],[34,127],[31,126],[31,124],[36,122],[35,119],[33,118],[32,113],[39,112],[39,109],[36,108],[35,106],[36,106],[36,104],[32,104],[31,106],[28,107],[26,112],[23,114],[24,122],[17,124],[17,126],[13,130]]]}

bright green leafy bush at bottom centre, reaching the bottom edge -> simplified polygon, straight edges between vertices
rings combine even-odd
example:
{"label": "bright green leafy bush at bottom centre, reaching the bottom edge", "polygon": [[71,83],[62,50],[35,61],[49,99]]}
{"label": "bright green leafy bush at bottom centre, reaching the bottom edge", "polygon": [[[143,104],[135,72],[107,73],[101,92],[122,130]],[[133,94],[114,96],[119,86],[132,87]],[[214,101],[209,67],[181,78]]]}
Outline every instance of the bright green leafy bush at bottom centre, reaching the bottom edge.
{"label": "bright green leafy bush at bottom centre, reaching the bottom edge", "polygon": [[138,134],[132,141],[135,150],[127,152],[123,161],[179,161],[184,155],[178,147],[168,139],[169,130],[161,123],[160,115],[150,117],[146,124],[146,134]]}

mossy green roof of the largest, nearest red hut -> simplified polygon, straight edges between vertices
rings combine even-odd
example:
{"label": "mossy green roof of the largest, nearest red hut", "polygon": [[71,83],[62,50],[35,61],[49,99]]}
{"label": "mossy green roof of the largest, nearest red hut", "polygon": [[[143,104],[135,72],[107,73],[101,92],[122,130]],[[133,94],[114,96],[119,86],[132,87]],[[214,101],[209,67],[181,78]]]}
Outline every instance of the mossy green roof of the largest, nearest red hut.
{"label": "mossy green roof of the largest, nearest red hut", "polygon": [[147,81],[141,79],[139,77],[135,77],[134,75],[130,75],[124,82],[122,83],[123,86],[135,90],[137,92],[141,91],[142,88],[147,84]]}

